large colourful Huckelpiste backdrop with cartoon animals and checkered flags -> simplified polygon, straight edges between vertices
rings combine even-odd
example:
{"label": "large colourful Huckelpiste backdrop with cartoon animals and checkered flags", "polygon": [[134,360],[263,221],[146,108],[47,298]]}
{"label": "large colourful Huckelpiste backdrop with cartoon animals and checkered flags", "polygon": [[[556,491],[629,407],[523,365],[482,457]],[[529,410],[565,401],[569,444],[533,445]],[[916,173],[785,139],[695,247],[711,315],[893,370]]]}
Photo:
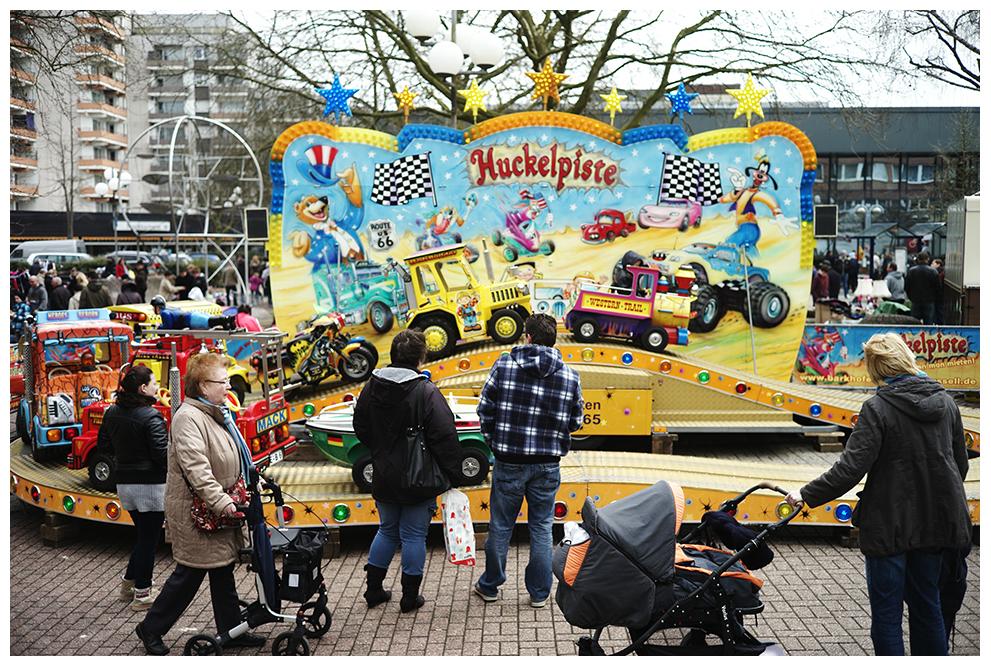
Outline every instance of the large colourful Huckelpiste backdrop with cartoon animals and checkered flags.
{"label": "large colourful Huckelpiste backdrop with cartoon animals and checkered flags", "polygon": [[[381,312],[373,326],[361,294],[387,280],[390,258],[462,241],[483,279],[487,251],[496,280],[532,263],[545,280],[611,282],[633,250],[670,272],[693,265],[717,293],[716,322],[692,334],[689,354],[787,380],[805,330],[815,171],[811,142],[779,122],[692,137],[680,125],[620,132],[548,111],[464,131],[406,125],[398,136],[299,123],[270,161],[276,322],[292,331],[339,310],[388,350],[404,319],[395,312],[380,333]],[[745,276],[761,311],[747,314],[753,340]]]}

